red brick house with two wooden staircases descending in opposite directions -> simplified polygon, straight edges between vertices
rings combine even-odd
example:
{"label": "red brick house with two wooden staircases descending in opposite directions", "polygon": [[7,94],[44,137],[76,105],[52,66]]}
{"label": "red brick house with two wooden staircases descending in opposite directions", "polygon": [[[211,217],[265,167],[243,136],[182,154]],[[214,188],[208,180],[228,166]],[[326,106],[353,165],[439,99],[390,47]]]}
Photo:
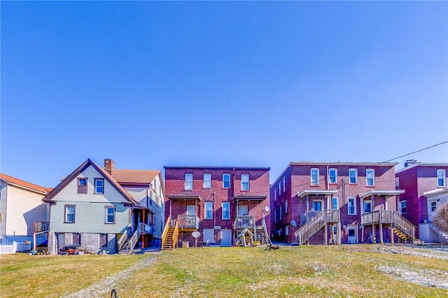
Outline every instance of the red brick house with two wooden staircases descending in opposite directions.
{"label": "red brick house with two wooden staircases descending in opposite directions", "polygon": [[290,162],[270,187],[272,237],[304,243],[414,238],[402,218],[395,163]]}

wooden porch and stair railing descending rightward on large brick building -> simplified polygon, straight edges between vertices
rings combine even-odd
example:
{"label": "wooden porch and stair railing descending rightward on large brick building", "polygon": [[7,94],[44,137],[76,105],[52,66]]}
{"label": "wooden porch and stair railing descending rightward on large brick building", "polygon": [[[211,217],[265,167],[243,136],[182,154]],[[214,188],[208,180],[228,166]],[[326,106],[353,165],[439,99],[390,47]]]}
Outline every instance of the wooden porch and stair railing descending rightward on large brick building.
{"label": "wooden porch and stair railing descending rightward on large brick building", "polygon": [[406,218],[403,218],[401,213],[393,210],[379,210],[371,213],[364,213],[361,216],[361,223],[363,225],[373,224],[391,224],[393,227],[399,229],[402,233],[406,234],[409,238],[415,239],[416,227],[409,222]]}

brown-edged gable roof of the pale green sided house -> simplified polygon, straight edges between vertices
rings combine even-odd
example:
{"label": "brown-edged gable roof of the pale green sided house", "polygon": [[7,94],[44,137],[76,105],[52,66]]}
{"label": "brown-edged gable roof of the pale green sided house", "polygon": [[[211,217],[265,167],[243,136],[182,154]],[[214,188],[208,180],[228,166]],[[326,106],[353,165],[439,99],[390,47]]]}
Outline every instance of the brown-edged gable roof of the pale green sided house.
{"label": "brown-edged gable roof of the pale green sided house", "polygon": [[61,183],[59,183],[55,188],[52,189],[52,191],[50,191],[45,197],[43,197],[42,201],[45,201],[46,203],[51,203],[53,201],[52,199],[56,196],[56,194],[58,194],[61,190],[63,190],[64,187],[66,187],[66,185],[68,185],[73,179],[78,177],[78,175],[82,171],[87,169],[88,166],[93,166],[94,169],[99,171],[99,173],[101,173],[102,176],[104,176],[104,178],[106,178],[106,180],[108,180],[109,183],[111,183],[111,185],[113,185],[113,187],[115,187],[116,190],[118,190],[118,192],[120,192],[120,194],[122,194],[123,197],[125,197],[125,199],[127,199],[127,201],[130,202],[130,204],[144,208],[143,206],[140,206],[137,203],[137,201],[135,201],[134,197],[132,197],[132,195],[129,192],[127,192],[120,185],[120,183],[117,182],[117,180],[115,180],[108,172],[104,171],[104,169],[101,166],[98,166],[98,164],[92,162],[90,158],[87,158],[87,160],[85,160],[85,162],[80,164],[80,166],[78,166],[78,168],[76,168],[73,172],[71,172],[69,176],[66,176],[66,178],[64,178],[64,180],[62,180]]}

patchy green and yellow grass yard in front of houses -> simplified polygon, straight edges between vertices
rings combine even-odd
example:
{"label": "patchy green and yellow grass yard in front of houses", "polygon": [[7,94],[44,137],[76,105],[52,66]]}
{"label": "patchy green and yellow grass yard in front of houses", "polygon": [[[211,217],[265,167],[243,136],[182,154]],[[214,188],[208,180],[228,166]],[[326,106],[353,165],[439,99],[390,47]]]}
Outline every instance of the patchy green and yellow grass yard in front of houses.
{"label": "patchy green and yellow grass yard in front of houses", "polygon": [[[151,261],[151,263],[148,263]],[[138,264],[142,264],[139,268]],[[144,265],[146,264],[146,265]],[[149,265],[148,265],[149,264]],[[448,281],[448,260],[382,253],[381,246],[190,248],[146,255],[1,257],[1,297],[62,297],[118,275],[83,297],[447,297],[400,281],[397,268]]]}

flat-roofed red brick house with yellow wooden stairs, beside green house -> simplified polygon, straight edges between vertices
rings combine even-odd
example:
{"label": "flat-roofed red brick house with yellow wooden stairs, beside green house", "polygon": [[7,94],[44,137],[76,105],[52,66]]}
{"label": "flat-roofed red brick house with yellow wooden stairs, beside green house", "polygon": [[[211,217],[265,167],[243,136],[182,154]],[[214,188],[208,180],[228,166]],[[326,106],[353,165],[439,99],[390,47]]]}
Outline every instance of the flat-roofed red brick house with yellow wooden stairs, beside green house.
{"label": "flat-roofed red brick house with yellow wooden stairs, beside green house", "polygon": [[165,166],[165,206],[162,248],[196,241],[231,246],[245,228],[263,241],[263,215],[270,229],[269,168]]}

